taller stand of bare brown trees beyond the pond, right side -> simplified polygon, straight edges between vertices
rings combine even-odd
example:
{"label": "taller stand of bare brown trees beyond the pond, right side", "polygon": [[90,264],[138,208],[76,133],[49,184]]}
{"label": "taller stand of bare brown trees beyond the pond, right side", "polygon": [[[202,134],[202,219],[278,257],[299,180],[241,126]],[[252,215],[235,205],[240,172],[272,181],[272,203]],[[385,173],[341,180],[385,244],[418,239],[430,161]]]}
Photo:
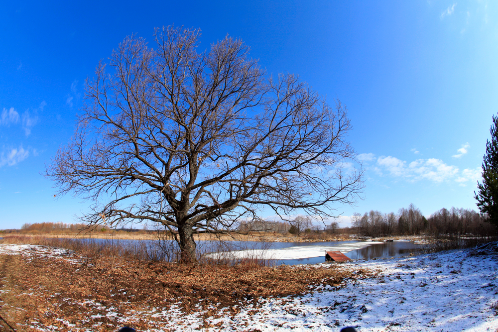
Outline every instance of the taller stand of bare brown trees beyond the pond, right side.
{"label": "taller stand of bare brown trees beyond the pond, right side", "polygon": [[497,227],[486,222],[486,217],[474,210],[441,209],[425,218],[413,204],[398,213],[383,214],[370,211],[363,216],[355,213],[352,218],[356,233],[364,236],[457,234],[495,236]]}

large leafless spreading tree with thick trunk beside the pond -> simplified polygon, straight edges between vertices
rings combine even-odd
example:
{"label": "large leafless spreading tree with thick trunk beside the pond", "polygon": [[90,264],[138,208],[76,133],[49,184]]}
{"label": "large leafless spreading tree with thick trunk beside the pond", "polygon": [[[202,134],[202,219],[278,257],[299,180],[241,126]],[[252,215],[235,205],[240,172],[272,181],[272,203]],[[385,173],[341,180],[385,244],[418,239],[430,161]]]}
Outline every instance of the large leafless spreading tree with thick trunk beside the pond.
{"label": "large leafless spreading tree with thick trunk beside the pond", "polygon": [[[195,262],[193,234],[237,229],[261,207],[332,215],[362,190],[346,108],[294,75],[267,77],[227,37],[198,52],[199,30],[127,37],[86,82],[71,142],[46,174],[93,200],[90,223],[152,221]],[[106,71],[110,67],[109,72]]]}

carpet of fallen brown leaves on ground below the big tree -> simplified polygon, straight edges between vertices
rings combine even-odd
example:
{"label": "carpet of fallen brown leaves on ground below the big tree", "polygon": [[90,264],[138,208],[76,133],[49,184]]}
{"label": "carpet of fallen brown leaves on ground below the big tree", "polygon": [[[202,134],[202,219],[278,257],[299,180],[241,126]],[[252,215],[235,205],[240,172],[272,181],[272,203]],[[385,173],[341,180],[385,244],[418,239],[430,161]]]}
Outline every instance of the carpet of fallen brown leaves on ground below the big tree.
{"label": "carpet of fallen brown leaves on ground below the big tree", "polygon": [[[131,311],[168,309],[172,304],[179,304],[185,314],[205,311],[210,316],[213,308],[229,307],[235,315],[245,305],[257,308],[261,298],[298,295],[323,284],[340,286],[345,278],[369,274],[333,264],[183,266],[109,257],[88,261],[76,255],[0,255],[0,264],[0,315],[17,331],[48,326],[57,331],[116,331]],[[133,322],[140,330],[150,324]]]}

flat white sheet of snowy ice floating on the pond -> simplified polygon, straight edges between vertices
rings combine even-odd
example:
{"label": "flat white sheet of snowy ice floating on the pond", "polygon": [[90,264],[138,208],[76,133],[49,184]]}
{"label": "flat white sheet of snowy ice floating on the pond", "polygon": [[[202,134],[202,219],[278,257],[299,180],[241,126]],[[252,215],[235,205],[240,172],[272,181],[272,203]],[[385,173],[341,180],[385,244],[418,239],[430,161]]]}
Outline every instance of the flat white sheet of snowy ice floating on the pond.
{"label": "flat white sheet of snowy ice floating on the pond", "polygon": [[368,247],[372,244],[384,242],[354,242],[339,243],[337,245],[301,245],[280,249],[249,249],[230,252],[215,252],[206,256],[214,259],[301,259],[325,256],[325,251],[341,251],[342,253]]}

